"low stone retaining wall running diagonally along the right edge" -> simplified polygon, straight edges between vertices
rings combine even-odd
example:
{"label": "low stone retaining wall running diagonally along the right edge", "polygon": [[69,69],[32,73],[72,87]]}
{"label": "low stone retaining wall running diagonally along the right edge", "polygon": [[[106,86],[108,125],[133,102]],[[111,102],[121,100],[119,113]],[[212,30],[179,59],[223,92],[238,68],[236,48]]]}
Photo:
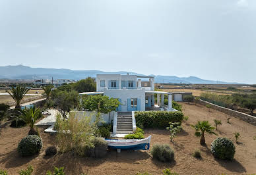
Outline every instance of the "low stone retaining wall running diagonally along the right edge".
{"label": "low stone retaining wall running diagonally along the right edge", "polygon": [[212,109],[215,109],[217,111],[223,112],[225,114],[228,114],[230,116],[234,116],[236,118],[239,118],[240,120],[243,120],[249,124],[253,124],[254,126],[256,126],[256,117],[255,116],[251,116],[249,114],[245,114],[243,112],[239,112],[239,111],[234,111],[232,109],[228,109],[225,107],[220,107],[218,105],[214,105],[212,103],[209,103],[207,101],[203,101],[203,100],[199,100],[198,101],[199,104],[201,105],[210,105]]}

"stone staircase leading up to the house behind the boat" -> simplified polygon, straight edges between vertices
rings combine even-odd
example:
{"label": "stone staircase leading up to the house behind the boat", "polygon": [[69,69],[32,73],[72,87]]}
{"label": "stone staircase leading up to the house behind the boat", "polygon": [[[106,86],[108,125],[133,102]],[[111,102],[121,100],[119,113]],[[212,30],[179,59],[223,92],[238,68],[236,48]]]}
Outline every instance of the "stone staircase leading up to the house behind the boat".
{"label": "stone staircase leading up to the house behind the boat", "polygon": [[118,112],[117,115],[117,134],[132,134],[133,119],[131,114]]}

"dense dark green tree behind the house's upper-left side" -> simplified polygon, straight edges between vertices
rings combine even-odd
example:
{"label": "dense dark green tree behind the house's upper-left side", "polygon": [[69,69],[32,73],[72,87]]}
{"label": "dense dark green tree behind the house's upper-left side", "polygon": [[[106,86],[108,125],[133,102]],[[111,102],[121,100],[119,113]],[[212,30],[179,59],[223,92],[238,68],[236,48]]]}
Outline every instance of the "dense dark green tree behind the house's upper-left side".
{"label": "dense dark green tree behind the house's upper-left side", "polygon": [[73,88],[79,93],[85,91],[96,91],[96,82],[94,78],[88,77],[84,80],[79,80],[73,84]]}

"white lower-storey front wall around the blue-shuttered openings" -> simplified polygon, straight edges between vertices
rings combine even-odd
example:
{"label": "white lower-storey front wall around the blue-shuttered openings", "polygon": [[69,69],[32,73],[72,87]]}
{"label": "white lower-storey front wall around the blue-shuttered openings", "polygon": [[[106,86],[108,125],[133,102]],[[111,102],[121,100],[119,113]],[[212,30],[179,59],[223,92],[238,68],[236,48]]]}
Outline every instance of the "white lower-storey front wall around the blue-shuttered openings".
{"label": "white lower-storey front wall around the blue-shuttered openings", "polygon": [[121,111],[127,112],[127,99],[141,99],[141,110],[145,111],[145,89],[104,89],[104,95],[108,97],[121,99]]}

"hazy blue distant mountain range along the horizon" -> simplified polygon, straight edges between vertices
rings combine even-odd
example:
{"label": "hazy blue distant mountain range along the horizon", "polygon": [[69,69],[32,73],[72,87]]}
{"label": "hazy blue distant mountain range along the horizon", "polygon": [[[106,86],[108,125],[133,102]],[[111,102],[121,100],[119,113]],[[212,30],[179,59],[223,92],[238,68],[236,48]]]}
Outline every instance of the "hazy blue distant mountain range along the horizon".
{"label": "hazy blue distant mountain range along the horizon", "polygon": [[[96,77],[96,74],[131,74],[131,75],[143,75],[135,72],[104,72],[100,70],[70,70],[70,69],[56,69],[56,68],[31,68],[29,66],[17,65],[17,66],[0,66],[0,78],[9,79],[72,79],[80,80],[88,76]],[[150,75],[154,76],[154,75]],[[177,83],[177,84],[238,84],[228,82],[216,82],[212,80],[203,80],[195,76],[189,77],[177,77],[177,76],[155,76],[155,82],[158,83]]]}

